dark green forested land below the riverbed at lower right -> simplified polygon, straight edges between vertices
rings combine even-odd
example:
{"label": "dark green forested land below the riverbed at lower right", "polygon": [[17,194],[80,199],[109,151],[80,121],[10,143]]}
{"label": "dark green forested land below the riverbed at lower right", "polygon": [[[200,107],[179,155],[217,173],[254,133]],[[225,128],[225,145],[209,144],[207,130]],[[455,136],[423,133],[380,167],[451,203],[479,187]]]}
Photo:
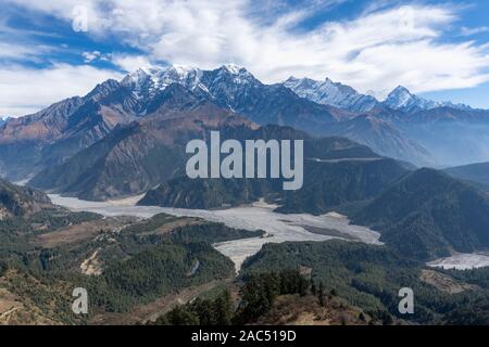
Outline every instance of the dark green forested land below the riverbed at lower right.
{"label": "dark green forested land below the riverbed at lower right", "polygon": [[[311,278],[323,283],[326,292],[334,292],[350,305],[362,308],[368,316],[392,317],[424,324],[453,323],[457,312],[479,307],[471,322],[489,323],[482,309],[489,303],[487,270],[438,272],[438,282],[426,277],[423,262],[409,260],[386,246],[328,241],[323,243],[267,244],[244,265],[243,278],[252,273],[280,269],[308,268]],[[429,270],[432,271],[432,270]],[[453,277],[453,278],[452,278]],[[455,280],[453,280],[455,279]],[[451,286],[459,285],[459,290]],[[399,290],[411,287],[415,293],[414,314],[400,314]],[[391,319],[387,319],[391,317]]]}

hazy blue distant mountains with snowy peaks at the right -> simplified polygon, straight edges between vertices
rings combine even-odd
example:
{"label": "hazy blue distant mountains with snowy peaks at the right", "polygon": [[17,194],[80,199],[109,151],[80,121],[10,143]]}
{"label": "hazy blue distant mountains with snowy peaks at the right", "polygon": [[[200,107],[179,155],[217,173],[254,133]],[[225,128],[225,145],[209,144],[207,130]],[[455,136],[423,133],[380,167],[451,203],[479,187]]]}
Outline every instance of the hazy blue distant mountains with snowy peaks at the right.
{"label": "hazy blue distant mountains with snowy peaks at the right", "polygon": [[[378,101],[328,78],[290,77],[283,85],[311,101],[356,113],[331,126],[329,133],[346,136],[383,155],[429,167],[484,162],[489,156],[486,110],[426,100],[402,86]],[[363,126],[355,129],[359,124]]]}

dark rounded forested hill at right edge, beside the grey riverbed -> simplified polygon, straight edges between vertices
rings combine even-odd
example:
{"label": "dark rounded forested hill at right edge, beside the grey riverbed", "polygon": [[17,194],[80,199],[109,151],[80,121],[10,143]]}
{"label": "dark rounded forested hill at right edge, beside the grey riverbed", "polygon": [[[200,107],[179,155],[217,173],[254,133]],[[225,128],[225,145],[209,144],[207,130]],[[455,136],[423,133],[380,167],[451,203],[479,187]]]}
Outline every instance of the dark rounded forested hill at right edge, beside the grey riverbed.
{"label": "dark rounded forested hill at right edge, beside the grey riverbed", "polygon": [[432,169],[409,174],[352,220],[378,229],[381,241],[421,259],[489,247],[488,196]]}

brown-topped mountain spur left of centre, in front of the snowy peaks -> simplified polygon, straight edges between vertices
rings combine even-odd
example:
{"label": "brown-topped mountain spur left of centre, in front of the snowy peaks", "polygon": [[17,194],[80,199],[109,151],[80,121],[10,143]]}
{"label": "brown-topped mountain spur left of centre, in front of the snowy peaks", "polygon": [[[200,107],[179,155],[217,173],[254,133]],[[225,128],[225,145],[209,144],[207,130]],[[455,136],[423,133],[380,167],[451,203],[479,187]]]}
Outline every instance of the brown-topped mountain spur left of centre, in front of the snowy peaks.
{"label": "brown-topped mountain spur left of centre, in front of the snowy peaks", "polygon": [[105,200],[145,192],[185,168],[185,145],[210,129],[254,127],[247,119],[201,101],[179,85],[159,95],[159,108],[47,168],[30,182],[86,200]]}

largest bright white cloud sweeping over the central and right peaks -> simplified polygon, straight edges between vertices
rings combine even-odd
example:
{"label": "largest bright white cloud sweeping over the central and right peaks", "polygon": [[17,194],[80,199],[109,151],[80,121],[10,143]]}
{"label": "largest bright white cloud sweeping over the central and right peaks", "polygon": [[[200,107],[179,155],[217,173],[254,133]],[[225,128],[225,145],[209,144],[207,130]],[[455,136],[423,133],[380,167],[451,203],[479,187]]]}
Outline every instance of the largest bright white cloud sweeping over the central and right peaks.
{"label": "largest bright white cloud sweeping over the central and right peaks", "polygon": [[[77,0],[7,1],[66,21],[79,4]],[[328,1],[335,2],[341,1]],[[448,5],[392,8],[380,2],[358,18],[327,22],[304,31],[296,30],[296,25],[315,14],[314,5],[296,13],[280,9],[271,13],[273,20],[263,21],[255,17],[260,3],[248,0],[84,3],[89,33],[99,37],[110,33],[146,52],[146,56],[115,57],[125,69],[159,60],[202,68],[236,63],[267,82],[289,75],[329,76],[361,91],[404,85],[423,92],[489,80],[487,46],[444,39],[460,11]]]}

